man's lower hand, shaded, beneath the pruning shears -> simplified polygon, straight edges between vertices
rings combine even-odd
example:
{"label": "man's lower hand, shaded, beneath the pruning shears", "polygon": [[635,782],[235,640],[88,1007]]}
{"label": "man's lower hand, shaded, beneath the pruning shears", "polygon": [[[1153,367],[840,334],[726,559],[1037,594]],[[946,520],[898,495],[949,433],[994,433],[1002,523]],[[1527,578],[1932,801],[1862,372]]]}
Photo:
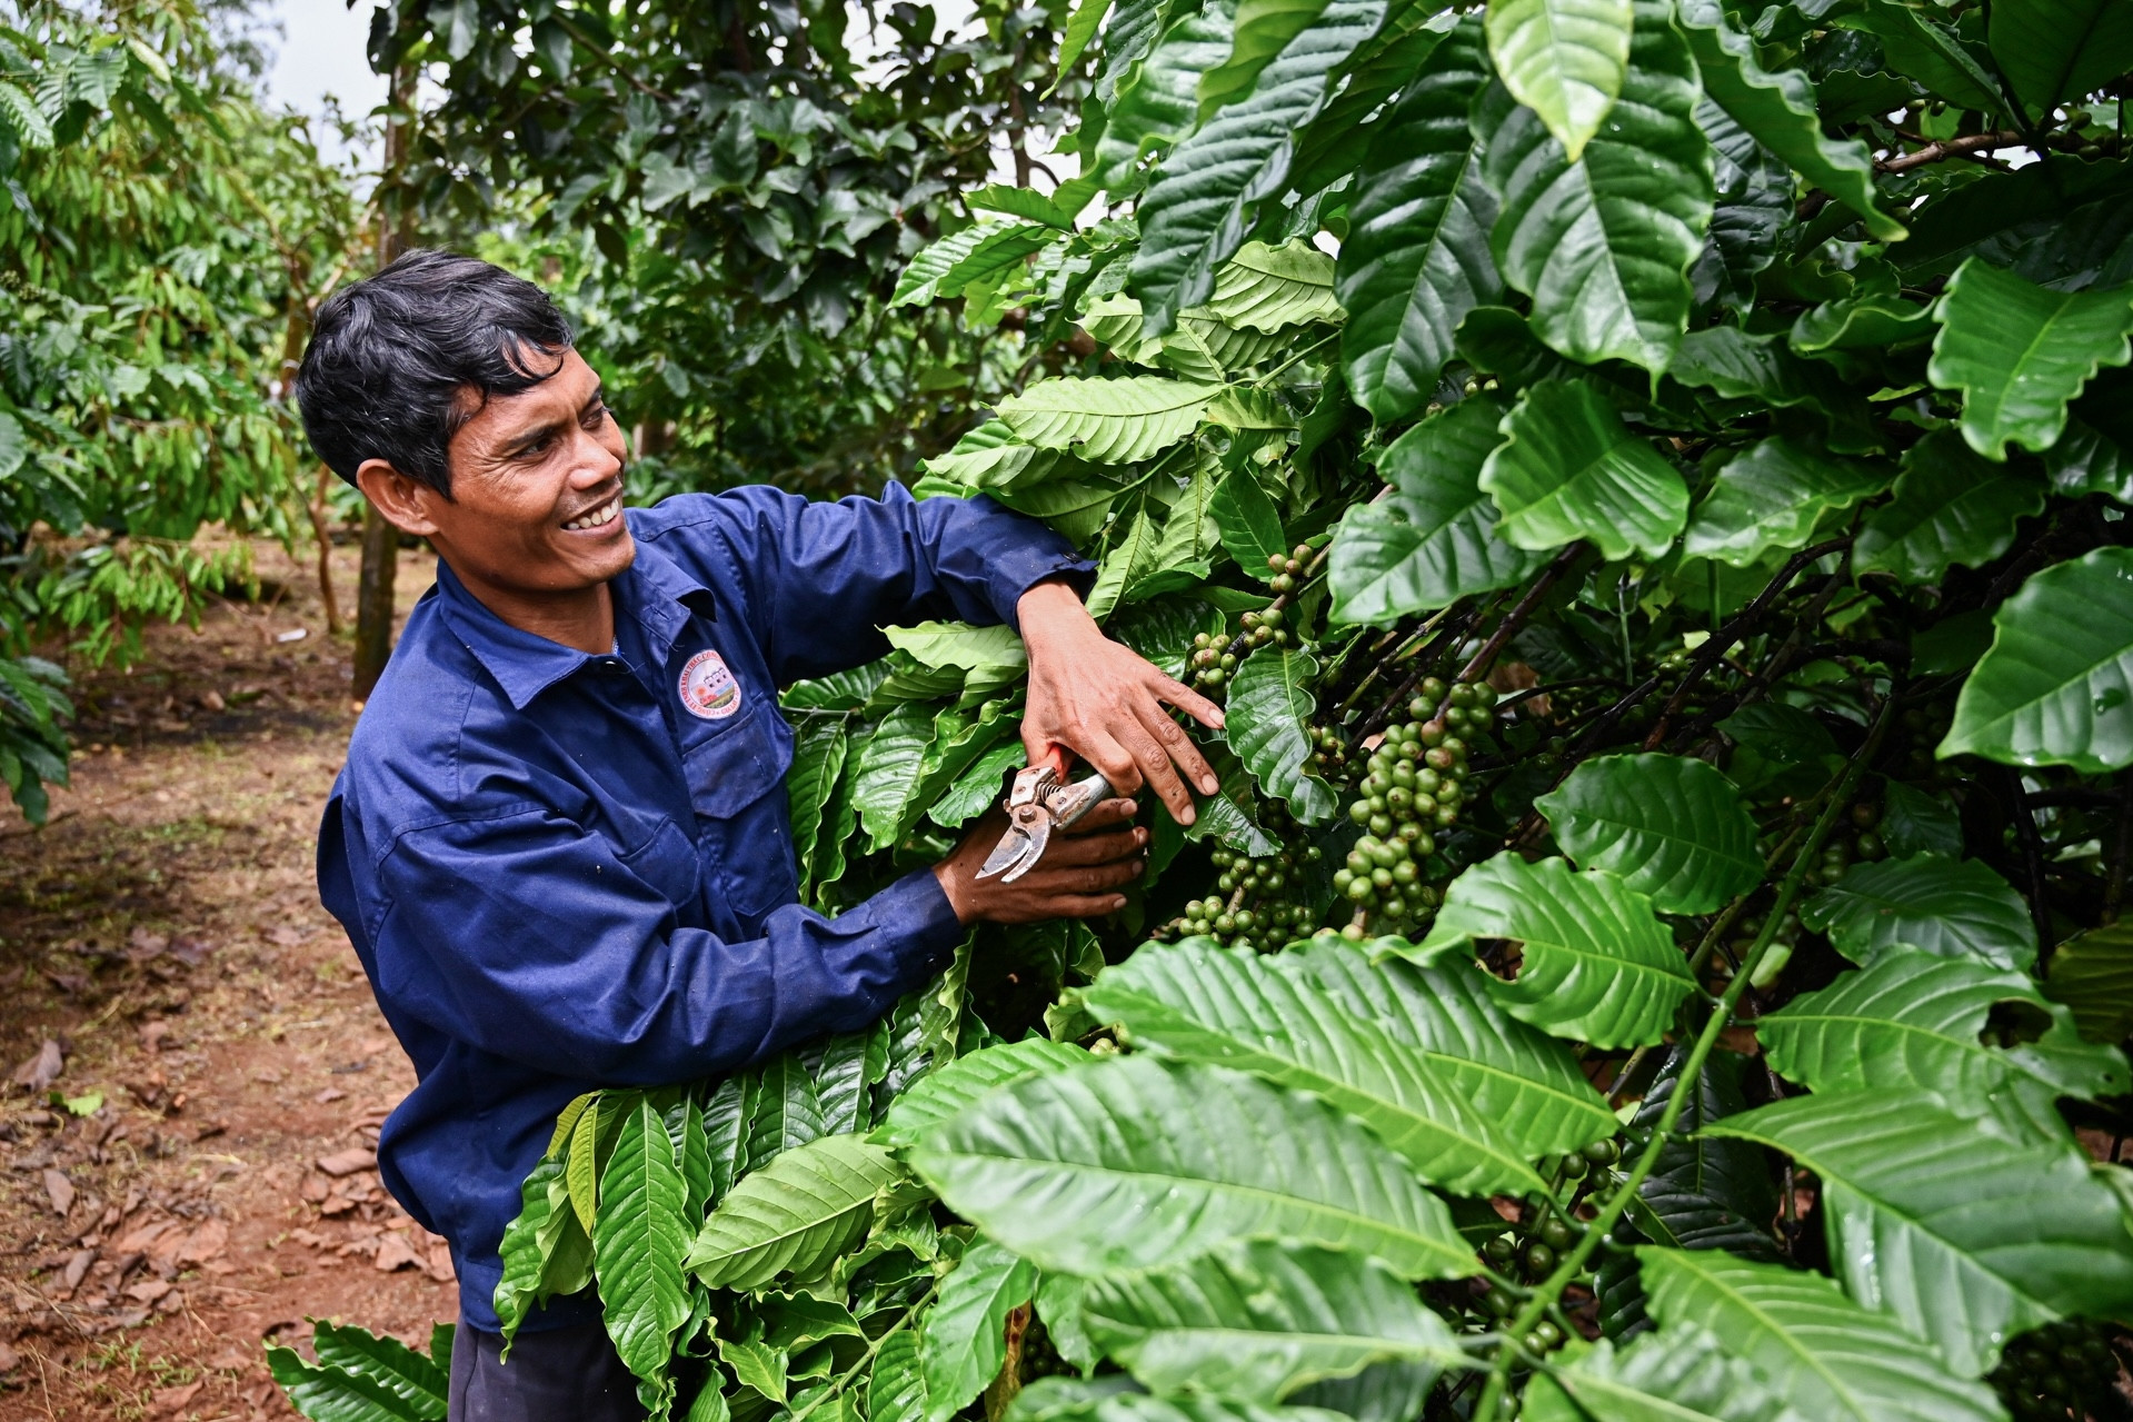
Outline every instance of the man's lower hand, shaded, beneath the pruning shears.
{"label": "man's lower hand, shaded, beneath the pruning shears", "polygon": [[953,854],[934,865],[934,878],[956,918],[966,925],[981,918],[1037,922],[1118,912],[1126,907],[1126,897],[1113,890],[1141,878],[1148,867],[1148,831],[1128,824],[1133,809],[1133,801],[1096,805],[1071,831],[1054,835],[1045,856],[1013,884],[977,878],[992,846],[1007,833],[1007,813],[994,809]]}

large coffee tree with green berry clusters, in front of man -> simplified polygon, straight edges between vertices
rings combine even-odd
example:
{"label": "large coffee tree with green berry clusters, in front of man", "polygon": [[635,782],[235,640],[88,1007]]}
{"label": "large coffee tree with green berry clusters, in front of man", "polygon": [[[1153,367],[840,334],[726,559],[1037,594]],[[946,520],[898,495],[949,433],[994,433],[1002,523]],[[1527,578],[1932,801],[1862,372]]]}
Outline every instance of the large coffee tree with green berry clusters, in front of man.
{"label": "large coffee tree with green berry clusters, in front of man", "polygon": [[[1084,175],[896,293],[1052,374],[919,491],[1088,549],[1222,790],[1116,920],[572,1104],[506,1324],[597,1287],[691,1422],[2124,1416],[2133,13],[1064,47]],[[785,694],[832,912],[1022,760],[1011,634],[889,636]],[[318,1352],[309,1416],[442,1416]]]}

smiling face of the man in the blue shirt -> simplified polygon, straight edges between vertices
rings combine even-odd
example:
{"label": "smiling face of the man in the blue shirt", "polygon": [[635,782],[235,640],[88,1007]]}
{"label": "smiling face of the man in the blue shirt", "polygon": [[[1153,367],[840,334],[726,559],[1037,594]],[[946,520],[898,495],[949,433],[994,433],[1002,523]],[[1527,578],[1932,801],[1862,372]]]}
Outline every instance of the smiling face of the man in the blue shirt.
{"label": "smiling face of the man in the blue shirt", "polygon": [[431,542],[463,579],[506,594],[565,594],[636,559],[623,521],[623,431],[576,350],[533,389],[491,397],[446,457],[452,497],[424,500],[424,512]]}

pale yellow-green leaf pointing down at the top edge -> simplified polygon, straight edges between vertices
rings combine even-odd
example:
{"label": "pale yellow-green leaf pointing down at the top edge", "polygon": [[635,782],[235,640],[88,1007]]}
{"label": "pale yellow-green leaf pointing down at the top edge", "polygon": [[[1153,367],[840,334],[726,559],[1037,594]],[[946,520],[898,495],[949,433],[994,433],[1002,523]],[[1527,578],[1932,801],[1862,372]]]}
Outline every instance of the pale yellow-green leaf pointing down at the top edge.
{"label": "pale yellow-green leaf pointing down at the top edge", "polygon": [[1489,58],[1576,162],[1600,132],[1630,70],[1630,0],[1497,0]]}

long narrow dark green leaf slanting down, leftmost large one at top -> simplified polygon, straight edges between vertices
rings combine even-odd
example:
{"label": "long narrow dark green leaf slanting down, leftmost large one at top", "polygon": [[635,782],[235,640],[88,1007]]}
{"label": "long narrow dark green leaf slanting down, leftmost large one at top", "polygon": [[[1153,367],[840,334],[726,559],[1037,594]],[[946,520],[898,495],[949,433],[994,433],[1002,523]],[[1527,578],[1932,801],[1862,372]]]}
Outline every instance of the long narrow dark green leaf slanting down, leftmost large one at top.
{"label": "long narrow dark green leaf slanting down, leftmost large one at top", "polygon": [[1335,68],[1384,19],[1386,0],[1322,2],[1325,13],[1261,70],[1248,98],[1171,149],[1141,199],[1130,290],[1150,335],[1167,335],[1177,312],[1216,295],[1216,271],[1250,237],[1258,203],[1288,184],[1297,130],[1318,113]]}

